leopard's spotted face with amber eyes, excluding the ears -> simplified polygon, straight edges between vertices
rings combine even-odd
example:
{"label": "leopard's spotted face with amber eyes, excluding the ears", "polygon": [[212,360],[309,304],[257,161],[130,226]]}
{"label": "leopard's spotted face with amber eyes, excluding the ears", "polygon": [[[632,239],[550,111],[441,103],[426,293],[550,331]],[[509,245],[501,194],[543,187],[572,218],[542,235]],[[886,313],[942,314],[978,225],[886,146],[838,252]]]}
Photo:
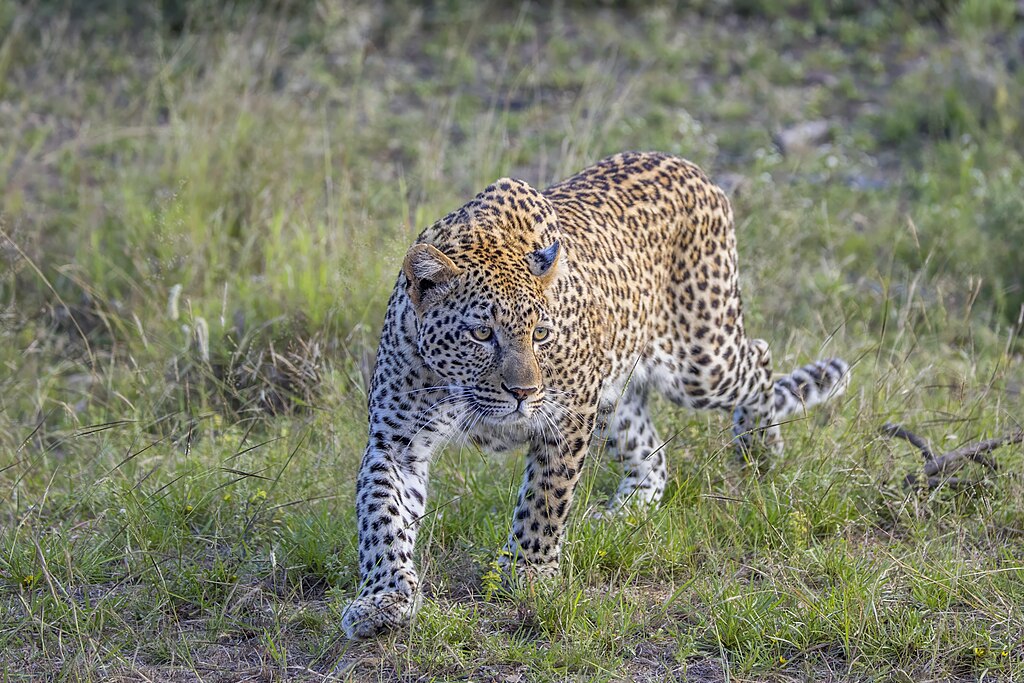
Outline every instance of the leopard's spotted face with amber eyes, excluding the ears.
{"label": "leopard's spotted face with amber eyes, excluding the ears", "polygon": [[559,330],[537,279],[509,274],[464,272],[421,317],[419,353],[469,422],[528,420],[548,397],[541,368]]}

